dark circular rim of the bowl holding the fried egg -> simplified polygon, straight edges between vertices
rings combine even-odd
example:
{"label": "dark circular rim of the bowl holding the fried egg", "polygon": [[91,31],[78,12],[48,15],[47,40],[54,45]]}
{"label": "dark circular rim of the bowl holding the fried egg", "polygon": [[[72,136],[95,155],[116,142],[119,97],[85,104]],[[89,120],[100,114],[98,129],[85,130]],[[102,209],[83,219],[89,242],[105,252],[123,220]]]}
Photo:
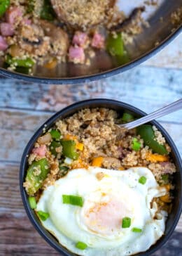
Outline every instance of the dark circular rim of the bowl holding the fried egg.
{"label": "dark circular rim of the bowl holding the fried egg", "polygon": [[[65,115],[67,112],[72,111],[74,108],[80,108],[80,109],[81,108],[90,108],[90,107],[92,108],[92,107],[94,107],[93,106],[94,104],[98,104],[98,105],[99,104],[109,104],[108,108],[110,108],[111,105],[113,104],[113,105],[118,106],[118,108],[125,108],[126,110],[131,111],[131,112],[133,112],[137,115],[141,115],[141,116],[146,115],[146,113],[144,111],[140,110],[139,108],[134,107],[133,105],[124,103],[122,101],[116,101],[116,100],[113,100],[113,99],[109,99],[109,98],[93,98],[93,99],[87,99],[87,100],[84,100],[84,101],[78,101],[76,103],[73,103],[71,105],[66,106],[66,108],[63,108],[62,110],[59,110],[57,113],[52,115],[48,120],[46,120],[41,125],[40,128],[37,129],[37,131],[34,133],[33,136],[31,136],[31,139],[27,143],[27,146],[25,147],[25,151],[22,154],[22,159],[21,159],[21,162],[20,162],[20,173],[19,173],[20,193],[21,193],[23,205],[25,207],[25,211],[27,212],[27,216],[29,217],[29,220],[30,220],[31,224],[34,226],[36,231],[38,231],[38,233],[44,238],[44,240],[49,245],[51,245],[52,248],[55,248],[55,250],[57,250],[57,252],[59,252],[59,253],[61,252],[62,255],[65,255],[65,256],[72,256],[72,255],[76,255],[76,254],[73,254],[73,252],[69,252],[69,250],[64,248],[61,244],[55,243],[55,241],[53,241],[46,234],[46,233],[49,233],[49,232],[46,231],[43,228],[41,223],[36,222],[36,219],[34,218],[34,210],[31,210],[31,208],[29,207],[29,203],[28,203],[28,200],[27,200],[28,196],[27,196],[27,193],[25,192],[25,188],[23,187],[26,165],[27,165],[27,154],[31,150],[32,146],[34,146],[34,143],[35,143],[36,139],[38,138],[38,136],[40,136],[42,134],[43,129],[45,129],[45,127],[50,127],[58,118],[60,118],[60,116]],[[90,107],[87,106],[87,105],[90,105]],[[77,111],[78,110],[76,110],[76,112]],[[71,115],[73,115],[73,113],[71,113]],[[165,138],[167,138],[167,143],[169,143],[170,147],[172,148],[172,151],[173,151],[173,153],[176,157],[177,165],[179,166],[179,173],[181,174],[181,188],[182,188],[182,160],[181,160],[181,156],[179,154],[179,151],[176,148],[176,145],[175,145],[174,141],[172,140],[171,136],[169,136],[168,132],[158,122],[156,122],[154,120],[150,123],[154,124],[160,130],[160,132],[162,132],[162,134],[165,136]],[[167,233],[167,235],[162,236],[162,238],[160,238],[160,240],[158,241],[158,245],[154,245],[153,248],[149,248],[148,251],[146,251],[146,252],[139,252],[135,256],[149,256],[149,255],[153,254],[153,252],[156,252],[159,248],[162,248],[162,246],[165,245],[165,243],[169,240],[169,238],[170,238],[170,236],[172,236],[172,233],[173,233],[176,225],[178,224],[179,218],[181,216],[181,212],[182,212],[182,189],[181,189],[179,199],[180,199],[179,200],[179,208],[178,208],[176,216],[174,217],[174,223],[173,223],[172,227],[170,227],[169,232]]]}

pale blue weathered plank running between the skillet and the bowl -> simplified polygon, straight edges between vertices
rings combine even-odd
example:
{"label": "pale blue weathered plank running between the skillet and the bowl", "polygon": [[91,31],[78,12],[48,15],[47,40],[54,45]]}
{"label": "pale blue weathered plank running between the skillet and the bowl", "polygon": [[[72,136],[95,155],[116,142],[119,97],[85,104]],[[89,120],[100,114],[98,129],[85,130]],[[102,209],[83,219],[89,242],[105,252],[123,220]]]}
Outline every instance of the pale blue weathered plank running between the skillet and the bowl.
{"label": "pale blue weathered plank running between the skillet and the bowl", "polygon": [[[76,85],[21,84],[1,80],[0,107],[57,111],[87,98],[114,98],[150,113],[181,98],[182,70],[137,67],[97,82]],[[181,113],[160,118],[181,122]]]}

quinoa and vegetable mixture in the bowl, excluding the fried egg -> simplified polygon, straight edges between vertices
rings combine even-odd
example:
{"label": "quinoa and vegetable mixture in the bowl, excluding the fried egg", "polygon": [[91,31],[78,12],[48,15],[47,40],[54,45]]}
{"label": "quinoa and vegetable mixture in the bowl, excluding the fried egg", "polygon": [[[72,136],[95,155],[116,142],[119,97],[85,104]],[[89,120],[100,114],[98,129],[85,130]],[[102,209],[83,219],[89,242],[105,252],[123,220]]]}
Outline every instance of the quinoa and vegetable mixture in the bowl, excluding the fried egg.
{"label": "quinoa and vegetable mixture in the bowl, excluding the fried egg", "polygon": [[170,156],[171,148],[161,132],[148,125],[145,128],[151,129],[155,146],[157,143],[158,150],[161,151],[154,153],[137,129],[125,130],[118,127],[118,123],[127,121],[125,115],[128,114],[116,113],[115,110],[107,108],[86,108],[70,117],[57,120],[50,129],[44,129],[43,135],[38,138],[28,156],[27,172],[33,169],[34,176],[38,175],[40,167],[38,169],[34,165],[45,160],[44,171],[48,174],[41,184],[36,185],[39,187],[35,190],[30,190],[31,180],[26,179],[24,186],[29,196],[40,196],[43,189],[54,184],[72,169],[98,166],[125,172],[130,167],[148,167],[159,186],[167,188],[167,195],[156,201],[162,209],[169,212],[174,188],[172,174],[176,172]]}

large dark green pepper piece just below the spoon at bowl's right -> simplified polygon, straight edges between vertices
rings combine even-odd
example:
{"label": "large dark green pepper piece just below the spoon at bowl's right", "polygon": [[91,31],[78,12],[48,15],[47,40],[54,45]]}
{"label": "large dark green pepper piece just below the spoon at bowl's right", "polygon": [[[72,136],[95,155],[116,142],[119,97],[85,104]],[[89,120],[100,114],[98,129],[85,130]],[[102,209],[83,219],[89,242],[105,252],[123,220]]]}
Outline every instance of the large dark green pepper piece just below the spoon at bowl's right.
{"label": "large dark green pepper piece just below the spoon at bowl's right", "polygon": [[167,155],[167,149],[164,145],[160,145],[158,141],[155,141],[155,134],[153,132],[153,127],[150,124],[144,124],[137,128],[137,134],[141,136],[141,139],[144,139],[146,146],[152,149],[154,153],[160,155]]}

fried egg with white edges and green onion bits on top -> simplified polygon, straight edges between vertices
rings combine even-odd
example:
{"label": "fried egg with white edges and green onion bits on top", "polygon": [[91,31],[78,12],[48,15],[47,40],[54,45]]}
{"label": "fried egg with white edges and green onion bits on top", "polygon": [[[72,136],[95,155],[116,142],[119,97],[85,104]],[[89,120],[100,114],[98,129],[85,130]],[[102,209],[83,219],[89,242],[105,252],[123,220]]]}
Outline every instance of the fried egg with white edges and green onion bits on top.
{"label": "fried egg with white edges and green onion bits on top", "polygon": [[[140,182],[141,177],[145,182]],[[73,169],[45,188],[36,210],[49,213],[41,221],[43,226],[71,252],[133,255],[148,250],[163,235],[167,212],[158,210],[153,198],[165,193],[146,167]],[[62,195],[79,196],[83,205],[63,203]],[[130,219],[127,228],[123,226],[126,217]],[[76,248],[78,241],[87,248]]]}

